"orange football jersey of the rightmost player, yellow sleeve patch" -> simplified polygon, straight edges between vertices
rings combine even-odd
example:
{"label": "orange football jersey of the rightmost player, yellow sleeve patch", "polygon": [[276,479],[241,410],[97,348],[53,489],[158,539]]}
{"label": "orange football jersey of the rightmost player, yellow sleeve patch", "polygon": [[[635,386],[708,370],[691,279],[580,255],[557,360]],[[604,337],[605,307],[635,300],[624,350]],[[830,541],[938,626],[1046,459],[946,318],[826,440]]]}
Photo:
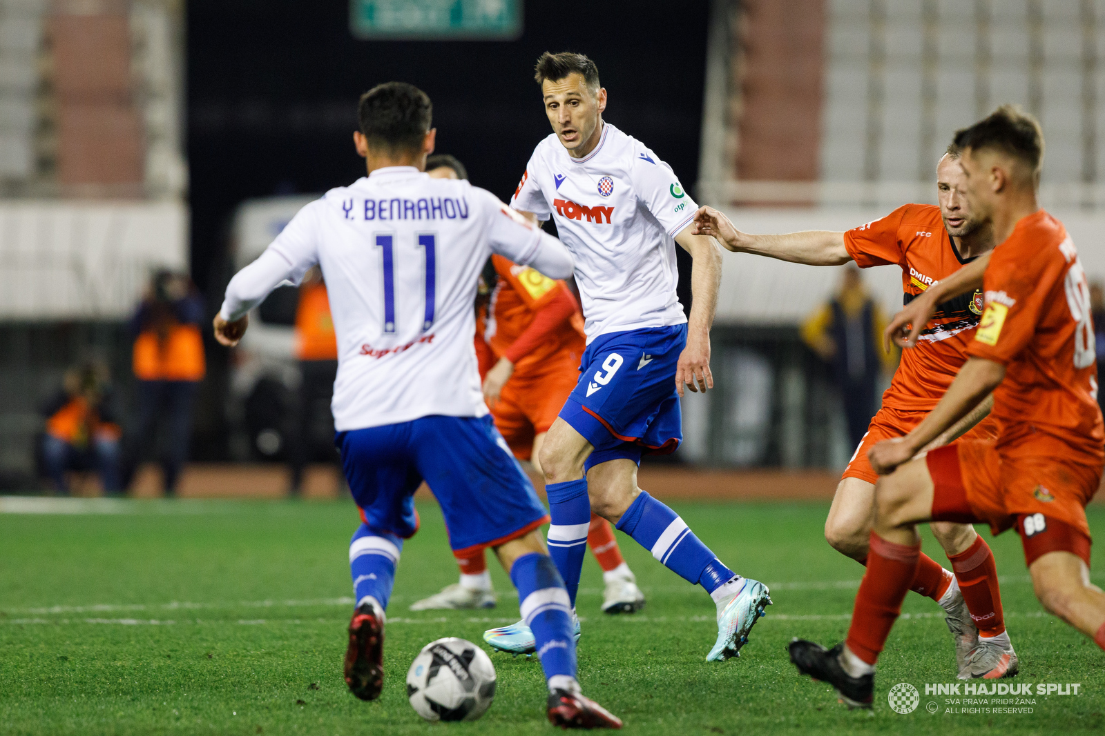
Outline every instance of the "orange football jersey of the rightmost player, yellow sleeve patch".
{"label": "orange football jersey of the rightmost player, yellow sleeve patch", "polygon": [[967,353],[1006,365],[993,392],[999,449],[1065,458],[1073,450],[1101,462],[1090,287],[1063,223],[1043,210],[1022,217],[990,257],[983,286],[986,312]]}

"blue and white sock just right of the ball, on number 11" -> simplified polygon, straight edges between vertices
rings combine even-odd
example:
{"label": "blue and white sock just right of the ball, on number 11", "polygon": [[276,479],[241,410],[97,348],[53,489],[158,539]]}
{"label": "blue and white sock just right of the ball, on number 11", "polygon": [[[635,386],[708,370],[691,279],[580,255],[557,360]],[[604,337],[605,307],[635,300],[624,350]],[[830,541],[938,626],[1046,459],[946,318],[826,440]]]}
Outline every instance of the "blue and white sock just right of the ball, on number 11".
{"label": "blue and white sock just right of the ball, on number 11", "polygon": [[[532,552],[514,561],[511,579],[518,589],[522,620],[537,642],[537,657],[545,679],[576,679],[576,637],[568,591],[556,565],[546,555]],[[552,683],[556,684],[556,683]]]}

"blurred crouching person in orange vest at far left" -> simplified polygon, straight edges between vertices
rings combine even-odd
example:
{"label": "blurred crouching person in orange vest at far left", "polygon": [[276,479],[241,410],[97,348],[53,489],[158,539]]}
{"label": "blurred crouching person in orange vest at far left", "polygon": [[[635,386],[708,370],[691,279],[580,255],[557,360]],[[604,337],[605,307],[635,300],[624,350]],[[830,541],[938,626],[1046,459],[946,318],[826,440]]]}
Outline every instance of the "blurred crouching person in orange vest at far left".
{"label": "blurred crouching person in orange vest at far left", "polygon": [[104,492],[120,493],[119,437],[107,365],[88,361],[65,372],[62,388],[42,407],[42,462],[54,489],[69,494],[67,470],[97,470]]}

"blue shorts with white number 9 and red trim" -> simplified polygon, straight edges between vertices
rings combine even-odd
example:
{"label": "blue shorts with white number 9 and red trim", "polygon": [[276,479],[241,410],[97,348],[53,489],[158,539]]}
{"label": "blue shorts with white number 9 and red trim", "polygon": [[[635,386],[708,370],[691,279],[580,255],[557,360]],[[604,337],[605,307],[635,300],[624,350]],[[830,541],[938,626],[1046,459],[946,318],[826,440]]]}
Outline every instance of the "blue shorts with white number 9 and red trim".
{"label": "blue shorts with white number 9 and red trim", "polygon": [[585,468],[674,452],[683,440],[675,365],[687,326],[610,332],[583,352],[579,383],[560,418],[594,446]]}

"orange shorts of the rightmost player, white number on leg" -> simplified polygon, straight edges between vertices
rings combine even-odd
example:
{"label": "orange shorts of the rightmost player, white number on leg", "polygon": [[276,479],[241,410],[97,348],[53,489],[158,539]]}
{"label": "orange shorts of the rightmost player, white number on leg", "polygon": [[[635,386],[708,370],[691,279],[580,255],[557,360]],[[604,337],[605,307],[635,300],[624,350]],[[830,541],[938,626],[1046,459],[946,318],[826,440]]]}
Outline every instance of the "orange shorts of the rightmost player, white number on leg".
{"label": "orange shorts of the rightmost player, white number on leg", "polygon": [[930,451],[933,520],[988,522],[994,534],[1017,527],[1029,565],[1056,550],[1088,565],[1086,504],[1097,492],[1102,465],[1023,448],[968,440]]}

